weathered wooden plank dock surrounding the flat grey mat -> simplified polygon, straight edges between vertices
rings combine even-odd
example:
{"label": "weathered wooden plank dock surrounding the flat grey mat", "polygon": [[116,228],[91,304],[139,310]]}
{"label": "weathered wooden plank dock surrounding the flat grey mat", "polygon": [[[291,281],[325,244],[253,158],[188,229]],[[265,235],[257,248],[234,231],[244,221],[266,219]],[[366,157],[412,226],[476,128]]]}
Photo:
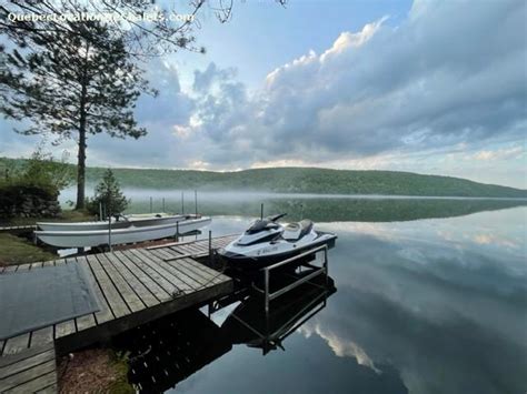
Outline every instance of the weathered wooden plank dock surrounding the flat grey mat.
{"label": "weathered wooden plank dock surrounding the flat grey mat", "polygon": [[[56,376],[54,367],[49,370],[54,365],[54,358],[52,362],[47,358],[51,353],[54,357],[54,352],[64,354],[231,293],[233,281],[230,277],[196,259],[207,256],[209,246],[221,247],[232,239],[228,235],[211,241],[170,243],[0,269],[0,274],[6,274],[60,264],[87,264],[100,303],[96,313],[0,341],[0,392],[18,391],[18,387],[19,392],[53,392],[56,377],[48,384]],[[16,360],[17,362],[12,361]],[[41,363],[43,358],[46,361]],[[46,378],[36,381],[39,376]],[[38,382],[42,383],[39,385]]]}

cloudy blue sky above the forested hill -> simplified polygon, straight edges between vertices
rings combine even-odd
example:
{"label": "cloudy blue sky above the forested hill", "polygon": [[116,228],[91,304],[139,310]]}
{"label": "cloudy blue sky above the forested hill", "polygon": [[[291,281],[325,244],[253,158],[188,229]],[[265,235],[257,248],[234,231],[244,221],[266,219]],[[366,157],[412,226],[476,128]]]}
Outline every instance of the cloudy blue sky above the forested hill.
{"label": "cloudy blue sky above the forested hill", "polygon": [[[148,135],[92,137],[88,165],[395,170],[527,189],[526,8],[255,0],[227,23],[205,9],[206,54],[142,64],[160,91],[136,108]],[[0,155],[39,142],[17,127],[0,120]],[[77,156],[74,142],[49,147]]]}

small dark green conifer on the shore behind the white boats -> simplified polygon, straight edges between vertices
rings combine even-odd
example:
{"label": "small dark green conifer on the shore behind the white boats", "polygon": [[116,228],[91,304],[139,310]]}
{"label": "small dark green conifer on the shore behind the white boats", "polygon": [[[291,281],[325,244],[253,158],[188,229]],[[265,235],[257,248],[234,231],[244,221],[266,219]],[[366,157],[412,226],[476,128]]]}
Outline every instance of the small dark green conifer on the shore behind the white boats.
{"label": "small dark green conifer on the shore behind the white boats", "polygon": [[99,206],[102,204],[105,212],[108,214],[117,214],[123,212],[130,200],[122,194],[119,182],[113,172],[108,169],[102,180],[96,186],[93,199],[87,199],[86,208],[90,213],[98,214]]}

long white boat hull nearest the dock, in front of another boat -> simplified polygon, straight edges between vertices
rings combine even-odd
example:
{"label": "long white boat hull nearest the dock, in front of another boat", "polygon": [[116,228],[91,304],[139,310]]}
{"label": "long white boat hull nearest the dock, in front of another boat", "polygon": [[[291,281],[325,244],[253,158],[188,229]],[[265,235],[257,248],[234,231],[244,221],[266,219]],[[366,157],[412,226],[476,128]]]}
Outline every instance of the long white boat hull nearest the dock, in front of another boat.
{"label": "long white boat hull nearest the dock, in front of another boat", "polygon": [[199,230],[211,222],[211,219],[203,216],[169,224],[152,226],[130,226],[128,229],[112,228],[111,236],[108,230],[93,231],[36,231],[37,238],[49,245],[56,247],[90,247],[99,245],[126,244],[160,240],[176,235],[179,228],[179,234],[189,233]]}

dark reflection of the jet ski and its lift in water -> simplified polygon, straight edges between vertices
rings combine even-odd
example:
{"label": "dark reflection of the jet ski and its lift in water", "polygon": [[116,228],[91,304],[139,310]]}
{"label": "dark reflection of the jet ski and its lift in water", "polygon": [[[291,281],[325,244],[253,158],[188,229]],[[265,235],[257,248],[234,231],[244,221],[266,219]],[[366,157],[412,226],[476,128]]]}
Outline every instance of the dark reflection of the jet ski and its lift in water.
{"label": "dark reflection of the jet ski and its lift in water", "polygon": [[330,277],[326,283],[326,277],[318,276],[272,302],[268,314],[261,297],[249,296],[230,313],[221,332],[232,344],[261,347],[264,354],[284,348],[281,342],[322,310],[336,291]]}

